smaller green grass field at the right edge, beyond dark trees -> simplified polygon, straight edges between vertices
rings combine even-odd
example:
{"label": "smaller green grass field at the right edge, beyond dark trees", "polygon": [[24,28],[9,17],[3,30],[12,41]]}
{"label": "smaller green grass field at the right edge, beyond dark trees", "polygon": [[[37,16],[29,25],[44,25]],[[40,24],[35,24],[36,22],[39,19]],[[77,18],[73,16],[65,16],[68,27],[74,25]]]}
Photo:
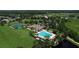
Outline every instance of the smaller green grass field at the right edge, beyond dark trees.
{"label": "smaller green grass field at the right edge, beyond dark trees", "polygon": [[71,20],[66,26],[79,34],[79,20]]}

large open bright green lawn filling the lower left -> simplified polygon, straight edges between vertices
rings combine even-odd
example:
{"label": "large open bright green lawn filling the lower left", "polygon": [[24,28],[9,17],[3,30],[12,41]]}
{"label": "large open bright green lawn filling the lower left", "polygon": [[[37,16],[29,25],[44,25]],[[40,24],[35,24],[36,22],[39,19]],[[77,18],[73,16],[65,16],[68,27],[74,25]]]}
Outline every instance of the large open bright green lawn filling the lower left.
{"label": "large open bright green lawn filling the lower left", "polygon": [[8,26],[0,26],[0,48],[31,48],[33,41],[26,29],[16,30]]}

